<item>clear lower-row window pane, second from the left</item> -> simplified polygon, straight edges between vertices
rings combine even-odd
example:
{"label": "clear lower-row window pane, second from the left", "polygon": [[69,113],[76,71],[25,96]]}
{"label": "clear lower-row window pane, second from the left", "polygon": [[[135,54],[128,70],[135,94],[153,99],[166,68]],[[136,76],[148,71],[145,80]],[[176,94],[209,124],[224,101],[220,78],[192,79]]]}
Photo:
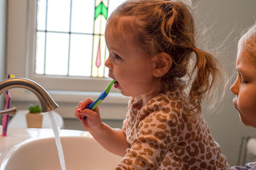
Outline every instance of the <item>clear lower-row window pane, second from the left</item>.
{"label": "clear lower-row window pane, second from the left", "polygon": [[47,32],[45,74],[67,75],[69,34]]}

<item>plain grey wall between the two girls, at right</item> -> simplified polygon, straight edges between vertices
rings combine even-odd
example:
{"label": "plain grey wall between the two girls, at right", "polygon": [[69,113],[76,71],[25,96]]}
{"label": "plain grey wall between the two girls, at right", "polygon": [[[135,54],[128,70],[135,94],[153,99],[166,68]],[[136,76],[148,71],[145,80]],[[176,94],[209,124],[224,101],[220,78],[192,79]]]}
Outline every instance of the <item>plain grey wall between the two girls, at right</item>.
{"label": "plain grey wall between the two girls, at right", "polygon": [[[236,78],[236,52],[237,42],[241,32],[253,25],[256,21],[255,0],[200,0],[198,3],[198,14],[200,22],[204,22],[209,36],[208,42],[201,42],[200,46],[207,46],[211,49],[218,48],[221,41],[230,35],[221,46],[218,59],[225,67],[231,81]],[[202,24],[200,29],[202,29]],[[232,31],[233,30],[233,31]],[[198,32],[201,33],[201,32]],[[233,77],[232,77],[233,76]],[[231,83],[231,82],[230,82]],[[214,139],[221,145],[221,150],[227,156],[230,165],[237,163],[239,145],[243,136],[255,136],[255,129],[245,127],[239,120],[239,115],[232,104],[233,95],[227,89],[223,108],[218,108],[214,113],[206,113],[204,106],[204,117],[210,127]]]}

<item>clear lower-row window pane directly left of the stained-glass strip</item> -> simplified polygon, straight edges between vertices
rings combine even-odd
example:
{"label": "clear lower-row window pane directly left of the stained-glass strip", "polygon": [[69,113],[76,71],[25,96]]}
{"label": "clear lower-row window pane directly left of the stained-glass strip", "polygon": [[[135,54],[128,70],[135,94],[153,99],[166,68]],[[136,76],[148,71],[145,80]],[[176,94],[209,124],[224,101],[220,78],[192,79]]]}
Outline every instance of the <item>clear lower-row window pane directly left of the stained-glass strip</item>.
{"label": "clear lower-row window pane directly left of the stained-glass strip", "polygon": [[70,76],[91,76],[92,38],[92,35],[71,35]]}

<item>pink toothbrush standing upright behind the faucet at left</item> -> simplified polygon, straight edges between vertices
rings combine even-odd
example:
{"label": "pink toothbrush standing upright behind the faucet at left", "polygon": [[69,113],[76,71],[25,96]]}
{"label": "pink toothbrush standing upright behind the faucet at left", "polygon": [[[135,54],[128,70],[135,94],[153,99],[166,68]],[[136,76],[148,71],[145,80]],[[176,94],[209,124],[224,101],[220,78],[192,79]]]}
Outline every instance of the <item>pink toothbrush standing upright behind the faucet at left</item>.
{"label": "pink toothbrush standing upright behind the faucet at left", "polygon": [[[13,74],[8,74],[7,78],[15,78],[15,76]],[[5,103],[5,110],[7,110],[8,108],[10,108],[10,102],[11,102],[11,96],[8,90],[6,90],[5,92],[5,96],[6,96],[6,103]],[[2,136],[6,136],[7,134],[7,127],[8,127],[8,120],[9,120],[9,115],[3,115],[2,118],[2,124],[3,124],[3,134]]]}

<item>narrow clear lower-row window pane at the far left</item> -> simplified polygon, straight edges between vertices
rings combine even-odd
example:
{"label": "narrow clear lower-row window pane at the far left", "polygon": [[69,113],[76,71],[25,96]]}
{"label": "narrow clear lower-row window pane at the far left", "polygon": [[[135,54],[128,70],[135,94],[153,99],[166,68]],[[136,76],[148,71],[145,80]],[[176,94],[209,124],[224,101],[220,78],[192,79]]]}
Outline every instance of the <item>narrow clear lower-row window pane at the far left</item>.
{"label": "narrow clear lower-row window pane at the far left", "polygon": [[44,74],[45,32],[36,34],[36,74]]}

